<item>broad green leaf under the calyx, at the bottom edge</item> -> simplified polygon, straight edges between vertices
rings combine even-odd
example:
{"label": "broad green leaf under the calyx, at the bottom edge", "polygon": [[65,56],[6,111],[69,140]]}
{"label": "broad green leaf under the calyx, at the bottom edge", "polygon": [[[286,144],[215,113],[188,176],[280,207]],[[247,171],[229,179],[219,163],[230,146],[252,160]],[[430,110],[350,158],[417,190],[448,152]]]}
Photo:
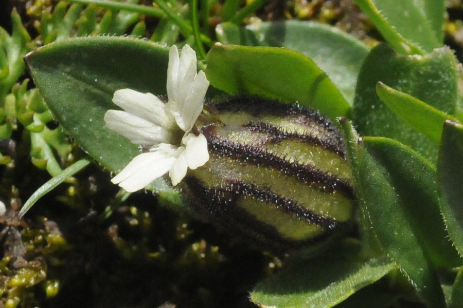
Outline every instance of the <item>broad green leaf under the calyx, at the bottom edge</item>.
{"label": "broad green leaf under the calyx, at the bottom edge", "polygon": [[259,283],[251,299],[262,307],[332,307],[396,268],[387,258],[364,259],[352,247],[290,264]]}

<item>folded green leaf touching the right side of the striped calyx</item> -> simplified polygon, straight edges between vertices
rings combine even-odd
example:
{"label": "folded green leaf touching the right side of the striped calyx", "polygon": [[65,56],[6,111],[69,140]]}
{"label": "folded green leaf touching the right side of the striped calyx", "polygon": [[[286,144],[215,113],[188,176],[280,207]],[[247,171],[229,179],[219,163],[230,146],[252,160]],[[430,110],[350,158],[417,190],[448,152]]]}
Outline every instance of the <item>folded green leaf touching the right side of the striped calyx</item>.
{"label": "folded green leaf touching the right side of the striped calyx", "polygon": [[395,140],[361,144],[359,196],[375,234],[429,306],[444,307],[435,268],[460,260],[440,216],[434,167]]}

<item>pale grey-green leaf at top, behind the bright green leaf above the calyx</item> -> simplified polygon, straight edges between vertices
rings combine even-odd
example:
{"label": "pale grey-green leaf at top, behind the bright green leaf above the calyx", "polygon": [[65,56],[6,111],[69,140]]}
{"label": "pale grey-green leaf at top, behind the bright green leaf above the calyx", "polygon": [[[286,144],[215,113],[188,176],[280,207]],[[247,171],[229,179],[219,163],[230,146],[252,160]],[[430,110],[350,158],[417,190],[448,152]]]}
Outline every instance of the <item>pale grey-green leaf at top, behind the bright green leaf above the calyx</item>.
{"label": "pale grey-green leaf at top, behind the bright green leaf above the calyx", "polygon": [[369,48],[357,38],[328,25],[289,20],[239,27],[216,27],[219,41],[246,46],[286,47],[300,52],[327,73],[350,105],[355,83]]}

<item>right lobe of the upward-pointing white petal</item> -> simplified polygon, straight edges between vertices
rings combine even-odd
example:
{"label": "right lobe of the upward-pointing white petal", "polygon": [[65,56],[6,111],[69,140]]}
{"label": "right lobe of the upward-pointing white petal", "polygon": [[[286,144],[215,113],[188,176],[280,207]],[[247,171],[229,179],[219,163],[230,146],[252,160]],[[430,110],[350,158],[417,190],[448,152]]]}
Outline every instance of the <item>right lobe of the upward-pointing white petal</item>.
{"label": "right lobe of the upward-pointing white petal", "polygon": [[[184,80],[177,93],[177,100],[174,104],[166,106],[175,117],[175,122],[183,131],[190,130],[198,119],[204,106],[209,81],[206,74],[200,71],[194,80]],[[172,106],[174,106],[172,108]]]}

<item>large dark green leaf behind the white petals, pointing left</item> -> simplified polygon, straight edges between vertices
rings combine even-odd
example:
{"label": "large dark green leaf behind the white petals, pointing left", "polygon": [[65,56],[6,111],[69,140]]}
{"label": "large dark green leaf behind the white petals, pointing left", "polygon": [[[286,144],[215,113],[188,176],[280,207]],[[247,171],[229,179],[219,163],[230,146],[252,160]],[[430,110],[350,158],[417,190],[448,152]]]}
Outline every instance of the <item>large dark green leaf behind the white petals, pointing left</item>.
{"label": "large dark green leaf behind the white petals, pointing left", "polygon": [[49,109],[89,155],[111,171],[138,155],[137,145],[104,126],[104,113],[117,109],[118,89],[166,95],[168,49],[130,37],[83,37],[44,46],[25,60]]}

